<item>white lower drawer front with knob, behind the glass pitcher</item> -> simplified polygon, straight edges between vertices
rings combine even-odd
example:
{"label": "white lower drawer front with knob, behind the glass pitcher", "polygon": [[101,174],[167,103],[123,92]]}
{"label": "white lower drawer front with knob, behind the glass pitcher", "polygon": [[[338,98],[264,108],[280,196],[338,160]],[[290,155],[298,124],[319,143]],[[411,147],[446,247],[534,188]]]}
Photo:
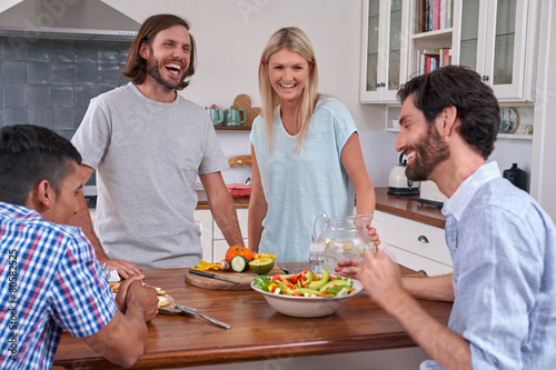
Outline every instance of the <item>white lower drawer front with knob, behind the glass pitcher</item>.
{"label": "white lower drawer front with knob, behind the glass pitcher", "polygon": [[374,227],[381,248],[399,264],[428,276],[453,271],[444,229],[380,211],[375,211]]}

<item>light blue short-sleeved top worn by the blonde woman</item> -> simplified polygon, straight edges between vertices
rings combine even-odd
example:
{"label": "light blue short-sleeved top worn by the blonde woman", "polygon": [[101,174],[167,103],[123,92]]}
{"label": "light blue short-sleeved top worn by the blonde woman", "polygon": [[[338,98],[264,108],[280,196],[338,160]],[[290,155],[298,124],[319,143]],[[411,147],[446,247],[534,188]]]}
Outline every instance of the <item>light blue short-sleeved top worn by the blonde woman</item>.
{"label": "light blue short-sleeved top worn by the blonde woman", "polygon": [[321,97],[302,151],[298,154],[297,136],[286,131],[278,113],[270,153],[265,123],[257,117],[249,138],[268,203],[259,252],[274,253],[282,262],[308,261],[314,216],[354,213],[355,190],[340,160],[354,132],[357,127],[347,108],[337,99]]}

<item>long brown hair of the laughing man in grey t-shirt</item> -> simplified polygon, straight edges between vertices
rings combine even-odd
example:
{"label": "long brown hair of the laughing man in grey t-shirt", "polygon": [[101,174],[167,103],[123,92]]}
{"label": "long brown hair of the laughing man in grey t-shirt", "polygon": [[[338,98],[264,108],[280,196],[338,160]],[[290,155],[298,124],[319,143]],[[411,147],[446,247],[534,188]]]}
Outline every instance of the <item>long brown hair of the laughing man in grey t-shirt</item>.
{"label": "long brown hair of the laughing man in grey t-shirt", "polygon": [[[158,32],[163,31],[173,26],[183,26],[189,31],[189,22],[173,14],[156,14],[149,17],[139,29],[133,42],[131,43],[131,48],[129,48],[129,54],[126,60],[126,71],[122,74],[130,79],[135,84],[140,84],[145,82],[147,78],[147,60],[139,54],[141,49],[141,43],[147,43],[150,46],[152,39],[157,36]],[[191,38],[191,51],[190,51],[190,61],[189,66],[181,78],[181,82],[178,87],[178,90],[185,89],[189,84],[190,77],[195,73],[195,39],[191,33],[189,33]]]}

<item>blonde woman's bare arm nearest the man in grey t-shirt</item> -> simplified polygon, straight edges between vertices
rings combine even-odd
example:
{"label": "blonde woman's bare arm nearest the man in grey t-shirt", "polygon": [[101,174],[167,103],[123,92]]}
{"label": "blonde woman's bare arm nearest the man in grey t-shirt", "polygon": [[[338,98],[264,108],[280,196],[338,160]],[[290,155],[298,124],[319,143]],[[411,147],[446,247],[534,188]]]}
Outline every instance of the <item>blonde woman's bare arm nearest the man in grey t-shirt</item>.
{"label": "blonde woman's bare arm nearest the man in grey t-shirt", "polygon": [[259,167],[255,148],[251,146],[251,198],[249,200],[249,218],[247,221],[247,234],[249,249],[254,252],[259,251],[260,236],[262,233],[262,220],[267,214],[267,199],[262,191]]}

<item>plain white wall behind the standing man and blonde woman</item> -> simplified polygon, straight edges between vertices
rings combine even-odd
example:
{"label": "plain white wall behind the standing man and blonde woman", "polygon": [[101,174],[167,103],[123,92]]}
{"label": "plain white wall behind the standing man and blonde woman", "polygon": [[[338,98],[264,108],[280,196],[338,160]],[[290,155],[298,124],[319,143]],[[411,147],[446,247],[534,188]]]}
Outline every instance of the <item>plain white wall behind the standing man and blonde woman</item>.
{"label": "plain white wall behind the standing man and blonde woman", "polygon": [[[105,1],[138,22],[159,12],[176,13],[191,22],[198,63],[192,83],[182,94],[202,107],[217,103],[228,108],[239,93],[247,93],[254,106],[260,107],[257,70],[265,43],[281,27],[301,28],[317,54],[319,90],[336,96],[351,111],[369,174],[375,186],[387,186],[389,171],[398,161],[396,134],[383,130],[383,106],[359,103],[360,0]],[[250,152],[248,132],[217,134],[225,154]],[[530,171],[530,141],[499,140],[492,159],[498,160],[500,170],[517,162]],[[231,169],[224,176],[227,182],[242,182],[248,173]]]}

